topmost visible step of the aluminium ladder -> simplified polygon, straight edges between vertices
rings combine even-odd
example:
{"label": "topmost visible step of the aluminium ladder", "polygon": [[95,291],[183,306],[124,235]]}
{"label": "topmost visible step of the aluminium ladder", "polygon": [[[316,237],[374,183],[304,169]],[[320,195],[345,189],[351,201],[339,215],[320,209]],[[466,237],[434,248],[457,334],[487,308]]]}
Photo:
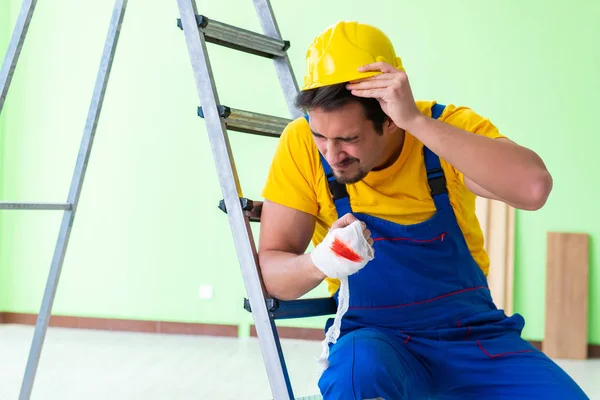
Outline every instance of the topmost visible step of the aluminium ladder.
{"label": "topmost visible step of the aluminium ladder", "polygon": [[[267,35],[252,32],[237,26],[208,19],[204,15],[196,15],[198,28],[204,33],[204,38],[209,43],[229,47],[234,50],[254,54],[266,58],[285,57],[290,42],[275,39]],[[181,19],[177,26],[183,29]]]}

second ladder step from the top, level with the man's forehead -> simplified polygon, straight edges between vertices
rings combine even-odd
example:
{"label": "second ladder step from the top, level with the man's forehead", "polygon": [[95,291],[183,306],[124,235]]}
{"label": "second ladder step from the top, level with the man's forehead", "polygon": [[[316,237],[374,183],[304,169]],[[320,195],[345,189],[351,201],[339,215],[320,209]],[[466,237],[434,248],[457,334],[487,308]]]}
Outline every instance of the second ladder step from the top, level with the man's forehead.
{"label": "second ladder step from the top, level with the man's forehead", "polygon": [[[287,118],[237,110],[223,105],[217,106],[217,108],[227,129],[237,132],[278,138],[291,122]],[[198,116],[204,118],[202,107],[198,107]]]}

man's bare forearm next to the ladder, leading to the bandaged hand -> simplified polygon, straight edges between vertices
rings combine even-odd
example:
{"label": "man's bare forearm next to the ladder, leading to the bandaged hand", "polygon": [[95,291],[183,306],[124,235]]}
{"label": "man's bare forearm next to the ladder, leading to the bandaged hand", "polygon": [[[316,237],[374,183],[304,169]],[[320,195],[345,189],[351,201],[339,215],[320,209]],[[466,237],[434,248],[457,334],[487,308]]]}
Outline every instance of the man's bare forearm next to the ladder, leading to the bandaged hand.
{"label": "man's bare forearm next to the ladder, leading to the bandaged hand", "polygon": [[317,287],[325,274],[313,264],[310,254],[277,250],[259,253],[267,292],[280,300],[295,300]]}

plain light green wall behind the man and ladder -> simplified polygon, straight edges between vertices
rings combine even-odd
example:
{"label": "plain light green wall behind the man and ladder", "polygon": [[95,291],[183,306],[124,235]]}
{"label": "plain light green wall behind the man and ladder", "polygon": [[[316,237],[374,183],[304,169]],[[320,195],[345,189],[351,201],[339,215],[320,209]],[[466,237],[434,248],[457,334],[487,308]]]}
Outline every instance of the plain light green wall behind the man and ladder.
{"label": "plain light green wall behind the man and ladder", "polygon": [[[416,97],[471,106],[540,153],[555,185],[543,210],[518,213],[516,311],[528,321],[525,337],[540,340],[546,232],[589,233],[589,336],[600,343],[600,228],[586,212],[596,191],[587,159],[599,144],[591,112],[600,107],[600,3],[460,4],[310,0],[273,7],[299,81],[311,39],[339,19],[359,19],[393,39]],[[12,27],[20,1],[9,5]],[[198,9],[260,30],[250,0],[198,1]],[[39,2],[9,94],[2,198],[66,197],[111,11],[111,1]],[[54,313],[240,324],[245,334],[251,319],[241,308],[227,219],[216,208],[220,189],[195,116],[177,17],[175,0],[129,2]],[[269,60],[209,48],[223,104],[287,116]],[[275,141],[235,132],[231,141],[244,195],[257,198]],[[0,301],[8,311],[37,312],[60,215],[2,218]],[[213,285],[212,300],[199,299],[201,284]],[[311,293],[324,294],[323,287]],[[282,325],[320,327],[323,320]]]}

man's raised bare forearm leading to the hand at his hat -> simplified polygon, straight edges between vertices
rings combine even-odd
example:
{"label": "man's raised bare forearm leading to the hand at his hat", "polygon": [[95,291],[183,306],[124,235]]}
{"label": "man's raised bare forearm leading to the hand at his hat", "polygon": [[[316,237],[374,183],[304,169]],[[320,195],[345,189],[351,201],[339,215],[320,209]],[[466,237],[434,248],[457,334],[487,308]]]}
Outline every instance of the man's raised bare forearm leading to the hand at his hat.
{"label": "man's raised bare forearm leading to the hand at his hat", "polygon": [[427,117],[406,129],[466,178],[509,204],[536,209],[548,197],[552,178],[542,159],[527,148]]}

